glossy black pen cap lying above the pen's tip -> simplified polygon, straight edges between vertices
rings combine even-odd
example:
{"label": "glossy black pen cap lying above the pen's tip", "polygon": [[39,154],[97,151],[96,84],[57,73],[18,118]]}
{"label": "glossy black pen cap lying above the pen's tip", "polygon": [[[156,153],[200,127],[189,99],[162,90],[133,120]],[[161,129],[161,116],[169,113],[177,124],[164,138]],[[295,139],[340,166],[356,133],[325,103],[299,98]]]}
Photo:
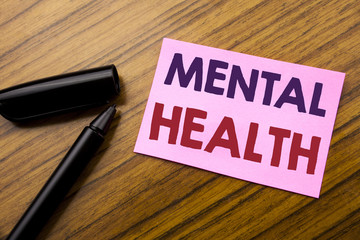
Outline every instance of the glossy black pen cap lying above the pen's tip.
{"label": "glossy black pen cap lying above the pen's tip", "polygon": [[0,113],[11,121],[100,105],[120,92],[114,65],[47,77],[0,90]]}

